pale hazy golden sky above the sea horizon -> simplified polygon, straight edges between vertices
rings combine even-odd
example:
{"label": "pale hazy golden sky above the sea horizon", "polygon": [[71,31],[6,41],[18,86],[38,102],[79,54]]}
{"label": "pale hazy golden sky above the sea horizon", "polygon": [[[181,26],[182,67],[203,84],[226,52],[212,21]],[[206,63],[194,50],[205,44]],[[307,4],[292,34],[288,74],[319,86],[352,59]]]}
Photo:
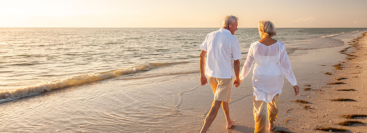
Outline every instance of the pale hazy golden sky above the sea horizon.
{"label": "pale hazy golden sky above the sea horizon", "polygon": [[0,27],[367,27],[367,0],[0,0]]}

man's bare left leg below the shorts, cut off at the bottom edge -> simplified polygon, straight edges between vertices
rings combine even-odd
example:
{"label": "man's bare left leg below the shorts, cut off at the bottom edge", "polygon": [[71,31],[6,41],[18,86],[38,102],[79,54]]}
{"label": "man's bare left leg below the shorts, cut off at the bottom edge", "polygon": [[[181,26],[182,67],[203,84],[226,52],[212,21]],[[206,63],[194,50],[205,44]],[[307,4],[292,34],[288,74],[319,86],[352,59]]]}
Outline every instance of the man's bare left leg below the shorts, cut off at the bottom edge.
{"label": "man's bare left leg below the shorts, cut off at the bottom edge", "polygon": [[211,109],[205,118],[203,128],[201,128],[200,133],[205,133],[211,123],[214,121],[214,118],[217,116],[219,107],[221,106],[222,101],[213,100],[213,103],[211,104]]}

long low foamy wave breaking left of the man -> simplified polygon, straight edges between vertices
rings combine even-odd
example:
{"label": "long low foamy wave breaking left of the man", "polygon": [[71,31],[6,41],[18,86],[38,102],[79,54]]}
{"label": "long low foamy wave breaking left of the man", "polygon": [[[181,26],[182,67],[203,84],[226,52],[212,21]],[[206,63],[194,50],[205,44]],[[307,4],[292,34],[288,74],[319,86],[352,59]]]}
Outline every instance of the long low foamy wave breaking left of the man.
{"label": "long low foamy wave breaking left of the man", "polygon": [[16,90],[7,90],[0,92],[0,103],[8,102],[14,99],[23,98],[26,96],[40,94],[46,91],[52,91],[58,88],[69,87],[69,86],[76,86],[86,83],[91,83],[95,81],[101,81],[105,79],[110,79],[113,77],[117,77],[120,75],[128,75],[132,73],[138,73],[140,71],[145,71],[150,68],[161,67],[161,66],[168,66],[174,64],[184,64],[188,63],[188,61],[181,61],[181,62],[164,62],[164,63],[149,63],[148,65],[140,65],[134,66],[130,68],[121,68],[115,69],[108,72],[101,72],[101,73],[90,73],[87,75],[80,75],[74,77],[66,77],[56,81],[43,81],[33,86],[18,88]]}

